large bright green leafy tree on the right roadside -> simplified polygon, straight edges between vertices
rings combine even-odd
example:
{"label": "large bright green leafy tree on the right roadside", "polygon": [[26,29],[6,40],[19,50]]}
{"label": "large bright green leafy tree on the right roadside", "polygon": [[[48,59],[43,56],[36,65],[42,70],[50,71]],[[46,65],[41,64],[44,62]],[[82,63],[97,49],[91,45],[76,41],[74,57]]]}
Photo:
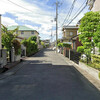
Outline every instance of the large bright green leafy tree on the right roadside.
{"label": "large bright green leafy tree on the right roadside", "polygon": [[[85,16],[81,19],[81,25],[79,27],[79,40],[81,41],[84,47],[84,53],[87,56],[87,61],[91,58],[90,54],[93,50],[95,53],[95,46],[97,46],[98,38],[97,34],[98,29],[100,27],[100,14],[99,12],[88,12]],[[99,38],[100,39],[100,38]],[[98,40],[99,40],[98,39]],[[97,43],[96,43],[97,42]]]}

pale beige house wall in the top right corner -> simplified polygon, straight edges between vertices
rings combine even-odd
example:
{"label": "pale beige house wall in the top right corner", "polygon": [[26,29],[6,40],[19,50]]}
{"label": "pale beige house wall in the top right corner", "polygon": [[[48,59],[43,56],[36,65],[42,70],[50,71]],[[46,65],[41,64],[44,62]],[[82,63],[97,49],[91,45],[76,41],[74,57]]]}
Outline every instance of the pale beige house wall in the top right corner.
{"label": "pale beige house wall in the top right corner", "polygon": [[88,5],[91,11],[100,11],[100,0],[88,0]]}

